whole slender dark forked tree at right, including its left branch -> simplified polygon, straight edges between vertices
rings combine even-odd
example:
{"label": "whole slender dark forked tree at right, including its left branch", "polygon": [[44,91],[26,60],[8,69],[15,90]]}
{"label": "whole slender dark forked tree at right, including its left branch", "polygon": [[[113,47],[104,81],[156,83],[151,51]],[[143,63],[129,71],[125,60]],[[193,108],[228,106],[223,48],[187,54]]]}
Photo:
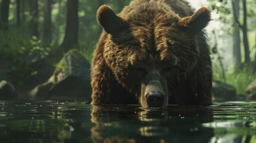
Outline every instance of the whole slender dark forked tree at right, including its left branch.
{"label": "whole slender dark forked tree at right, including its left branch", "polygon": [[[232,0],[232,8],[233,11],[236,11],[236,6],[234,0]],[[245,63],[251,62],[250,59],[250,51],[249,51],[249,43],[248,43],[248,37],[247,37],[247,10],[246,10],[246,0],[243,0],[243,24],[241,24],[238,21],[238,15],[234,13],[234,19],[236,20],[238,26],[243,31],[243,42],[244,42],[244,48],[245,48]]]}

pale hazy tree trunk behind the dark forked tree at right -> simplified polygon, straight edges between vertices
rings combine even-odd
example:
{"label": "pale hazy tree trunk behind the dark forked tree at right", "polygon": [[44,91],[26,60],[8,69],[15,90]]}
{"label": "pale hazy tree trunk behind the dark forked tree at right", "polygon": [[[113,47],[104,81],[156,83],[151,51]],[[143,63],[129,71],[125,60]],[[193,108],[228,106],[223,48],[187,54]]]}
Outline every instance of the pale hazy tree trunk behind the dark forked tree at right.
{"label": "pale hazy tree trunk behind the dark forked tree at right", "polygon": [[[233,14],[239,17],[239,0],[234,0],[234,10]],[[234,16],[235,17],[235,16]],[[238,66],[241,63],[241,50],[240,50],[240,30],[239,26],[234,19],[234,34],[233,34],[233,59],[234,66]]]}

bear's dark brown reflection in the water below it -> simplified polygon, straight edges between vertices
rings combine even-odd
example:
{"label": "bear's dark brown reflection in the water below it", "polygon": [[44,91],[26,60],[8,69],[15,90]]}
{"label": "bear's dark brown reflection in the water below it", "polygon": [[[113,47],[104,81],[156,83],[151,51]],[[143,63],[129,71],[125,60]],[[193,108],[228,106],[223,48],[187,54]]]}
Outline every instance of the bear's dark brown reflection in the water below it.
{"label": "bear's dark brown reflection in the water below it", "polygon": [[213,136],[212,128],[201,126],[213,120],[209,111],[179,112],[175,106],[168,110],[137,108],[131,120],[129,112],[120,114],[106,108],[93,106],[92,122],[97,125],[91,131],[95,143],[207,143]]}

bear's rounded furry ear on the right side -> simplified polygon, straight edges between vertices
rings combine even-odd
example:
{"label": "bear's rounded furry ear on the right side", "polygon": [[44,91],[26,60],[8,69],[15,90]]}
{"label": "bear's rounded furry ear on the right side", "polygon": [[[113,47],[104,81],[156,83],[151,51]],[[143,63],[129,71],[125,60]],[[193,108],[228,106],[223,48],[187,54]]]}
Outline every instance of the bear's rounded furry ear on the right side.
{"label": "bear's rounded furry ear on the right side", "polygon": [[211,12],[206,7],[198,9],[192,16],[181,18],[178,25],[186,30],[194,33],[199,33],[206,27],[211,20]]}

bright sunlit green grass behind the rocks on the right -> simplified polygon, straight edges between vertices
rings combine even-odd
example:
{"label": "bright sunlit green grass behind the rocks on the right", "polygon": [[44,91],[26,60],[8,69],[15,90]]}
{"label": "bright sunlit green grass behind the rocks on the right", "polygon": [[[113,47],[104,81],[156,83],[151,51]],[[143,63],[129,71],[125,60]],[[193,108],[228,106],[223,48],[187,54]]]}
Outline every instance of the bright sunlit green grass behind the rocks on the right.
{"label": "bright sunlit green grass behind the rocks on the right", "polygon": [[[244,94],[247,86],[256,79],[256,73],[253,74],[252,67],[245,66],[240,70],[228,70],[225,73],[226,84],[236,88],[237,94]],[[224,82],[220,68],[213,67],[213,80]]]}

